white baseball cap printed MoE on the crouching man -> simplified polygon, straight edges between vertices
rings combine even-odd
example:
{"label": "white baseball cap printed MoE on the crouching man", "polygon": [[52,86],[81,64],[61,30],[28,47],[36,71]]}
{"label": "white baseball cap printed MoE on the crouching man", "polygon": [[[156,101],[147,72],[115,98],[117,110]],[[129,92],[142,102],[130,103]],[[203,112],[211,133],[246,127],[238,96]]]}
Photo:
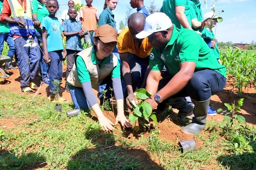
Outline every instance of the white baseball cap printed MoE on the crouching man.
{"label": "white baseball cap printed MoE on the crouching man", "polygon": [[144,30],[137,34],[136,37],[142,39],[152,33],[167,30],[172,25],[171,19],[165,13],[155,12],[154,14],[147,16]]}

